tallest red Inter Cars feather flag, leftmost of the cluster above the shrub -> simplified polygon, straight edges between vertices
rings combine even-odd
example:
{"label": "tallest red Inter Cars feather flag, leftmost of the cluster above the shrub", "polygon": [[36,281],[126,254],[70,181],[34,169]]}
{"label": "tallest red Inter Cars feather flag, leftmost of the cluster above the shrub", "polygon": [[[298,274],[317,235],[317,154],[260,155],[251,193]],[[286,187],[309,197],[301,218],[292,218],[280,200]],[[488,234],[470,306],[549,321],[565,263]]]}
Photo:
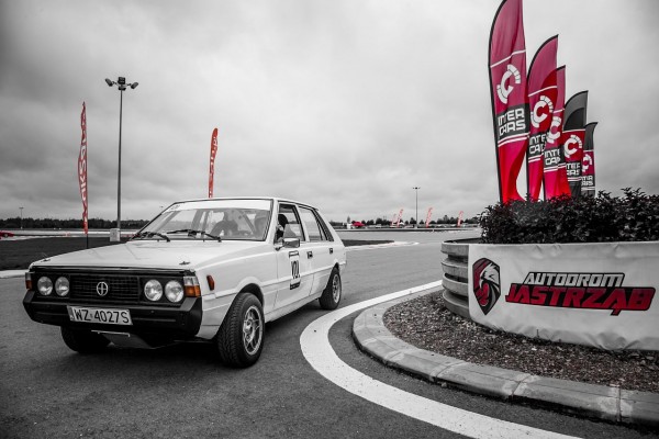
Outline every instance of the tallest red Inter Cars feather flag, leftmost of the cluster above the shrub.
{"label": "tallest red Inter Cars feather flag, leftmost of the cluster above the shrub", "polygon": [[502,202],[522,200],[517,177],[528,143],[526,43],[522,15],[522,0],[503,0],[490,33],[490,91]]}

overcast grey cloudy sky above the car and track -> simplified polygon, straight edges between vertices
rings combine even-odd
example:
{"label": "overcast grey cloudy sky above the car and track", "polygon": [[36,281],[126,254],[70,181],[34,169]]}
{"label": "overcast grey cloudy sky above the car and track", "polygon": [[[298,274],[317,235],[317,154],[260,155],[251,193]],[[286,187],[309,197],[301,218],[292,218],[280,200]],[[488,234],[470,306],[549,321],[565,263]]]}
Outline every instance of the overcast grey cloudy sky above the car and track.
{"label": "overcast grey cloudy sky above the car and track", "polygon": [[[122,218],[280,195],[336,221],[478,215],[498,201],[488,41],[499,0],[0,0],[0,217]],[[659,2],[525,0],[527,65],[559,34],[589,90],[597,190],[659,193]],[[522,181],[521,181],[522,183]],[[520,184],[520,192],[525,190]]]}

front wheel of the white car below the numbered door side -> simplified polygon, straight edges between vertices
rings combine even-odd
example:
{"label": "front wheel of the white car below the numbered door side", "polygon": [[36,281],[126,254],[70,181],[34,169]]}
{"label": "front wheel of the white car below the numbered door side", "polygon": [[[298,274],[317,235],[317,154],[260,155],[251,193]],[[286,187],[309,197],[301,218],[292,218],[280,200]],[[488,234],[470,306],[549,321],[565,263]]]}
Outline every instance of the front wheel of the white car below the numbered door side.
{"label": "front wheel of the white car below the numbered door side", "polygon": [[241,293],[228,308],[217,331],[220,359],[232,368],[248,368],[264,349],[266,322],[260,302],[252,293]]}

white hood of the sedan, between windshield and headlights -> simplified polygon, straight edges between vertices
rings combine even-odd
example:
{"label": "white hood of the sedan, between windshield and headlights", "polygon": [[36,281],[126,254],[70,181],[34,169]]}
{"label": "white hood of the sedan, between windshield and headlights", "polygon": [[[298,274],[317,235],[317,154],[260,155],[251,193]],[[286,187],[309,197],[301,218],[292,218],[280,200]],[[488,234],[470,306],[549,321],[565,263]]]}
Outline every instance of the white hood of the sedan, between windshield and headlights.
{"label": "white hood of the sedan, between windshield and headlights", "polygon": [[224,240],[135,240],[97,247],[38,260],[36,267],[155,268],[194,270],[221,260],[231,260],[272,246],[263,241]]}

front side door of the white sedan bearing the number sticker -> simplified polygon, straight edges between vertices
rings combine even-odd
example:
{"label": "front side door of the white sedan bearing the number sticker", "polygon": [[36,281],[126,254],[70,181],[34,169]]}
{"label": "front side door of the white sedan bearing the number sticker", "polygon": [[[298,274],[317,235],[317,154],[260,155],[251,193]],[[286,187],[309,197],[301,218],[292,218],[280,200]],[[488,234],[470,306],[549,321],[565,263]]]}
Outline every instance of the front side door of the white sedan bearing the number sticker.
{"label": "front side door of the white sedan bearing the number sticker", "polygon": [[[277,252],[277,301],[275,307],[281,308],[295,303],[311,294],[313,271],[311,260],[304,247],[304,232],[300,215],[293,204],[280,203],[278,226],[283,228],[281,238],[299,238],[300,247],[281,247]],[[280,246],[277,244],[276,246]]]}

